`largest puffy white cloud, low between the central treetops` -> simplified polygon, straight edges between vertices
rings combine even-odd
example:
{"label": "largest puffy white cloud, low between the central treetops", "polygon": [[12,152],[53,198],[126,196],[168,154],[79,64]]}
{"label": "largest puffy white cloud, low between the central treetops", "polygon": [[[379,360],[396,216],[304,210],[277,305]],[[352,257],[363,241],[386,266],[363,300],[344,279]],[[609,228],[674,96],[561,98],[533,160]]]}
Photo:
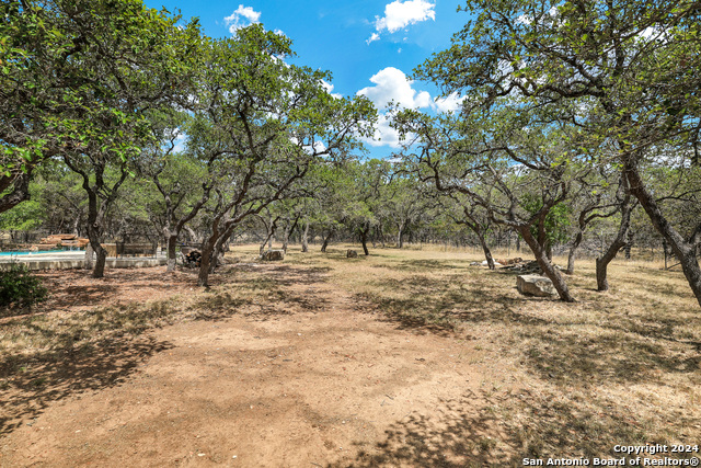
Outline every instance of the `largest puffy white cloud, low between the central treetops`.
{"label": "largest puffy white cloud, low between the central treetops", "polygon": [[413,81],[398,68],[387,67],[378,71],[370,81],[375,87],[363,88],[357,92],[364,95],[378,109],[383,109],[394,101],[399,105],[409,109],[428,107],[430,94],[426,91],[416,91],[412,88]]}

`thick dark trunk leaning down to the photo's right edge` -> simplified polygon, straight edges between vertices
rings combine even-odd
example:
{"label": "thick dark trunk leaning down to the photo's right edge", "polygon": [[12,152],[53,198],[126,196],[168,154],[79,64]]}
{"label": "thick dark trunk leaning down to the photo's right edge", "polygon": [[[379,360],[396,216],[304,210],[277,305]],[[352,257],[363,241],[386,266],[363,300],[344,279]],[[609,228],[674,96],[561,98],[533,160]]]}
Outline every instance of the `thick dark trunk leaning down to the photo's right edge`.
{"label": "thick dark trunk leaning down to the photo's right edge", "polygon": [[625,161],[625,172],[630,182],[631,193],[637,198],[657,232],[667,240],[675,255],[681,262],[681,270],[699,306],[701,306],[701,267],[699,267],[699,260],[696,255],[696,243],[688,242],[681,237],[663,215],[657,202],[645,187],[634,161]]}

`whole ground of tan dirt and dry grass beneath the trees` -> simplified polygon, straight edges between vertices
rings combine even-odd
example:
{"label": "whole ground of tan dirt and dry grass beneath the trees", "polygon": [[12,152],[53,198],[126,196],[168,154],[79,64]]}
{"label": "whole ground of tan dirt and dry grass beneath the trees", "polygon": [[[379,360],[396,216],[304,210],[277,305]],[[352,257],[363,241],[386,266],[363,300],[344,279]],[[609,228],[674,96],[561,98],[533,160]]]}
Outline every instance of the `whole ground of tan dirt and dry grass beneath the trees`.
{"label": "whole ground of tan dirt and dry grass beneath the trees", "polygon": [[258,263],[240,246],[209,289],[187,270],[42,273],[47,301],[0,311],[0,467],[701,455],[701,315],[679,271],[619,260],[602,294],[583,259],[565,304],[472,266],[479,251],[346,248]]}

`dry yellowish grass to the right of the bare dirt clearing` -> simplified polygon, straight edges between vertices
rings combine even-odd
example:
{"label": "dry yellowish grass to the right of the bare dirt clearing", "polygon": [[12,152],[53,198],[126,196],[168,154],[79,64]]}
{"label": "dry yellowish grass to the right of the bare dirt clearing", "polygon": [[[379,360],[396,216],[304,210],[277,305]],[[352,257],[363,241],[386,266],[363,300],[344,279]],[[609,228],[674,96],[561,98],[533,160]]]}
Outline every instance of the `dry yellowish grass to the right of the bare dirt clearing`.
{"label": "dry yellowish grass to the right of the bare dirt clearing", "polygon": [[563,304],[520,296],[513,273],[469,266],[482,261],[474,252],[343,253],[290,261],[331,267],[341,287],[400,327],[474,341],[503,375],[490,386],[518,388],[490,409],[510,434],[490,447],[493,459],[701,441],[701,311],[680,272],[618,260],[602,294],[593,262],[579,261],[567,277],[578,301]]}

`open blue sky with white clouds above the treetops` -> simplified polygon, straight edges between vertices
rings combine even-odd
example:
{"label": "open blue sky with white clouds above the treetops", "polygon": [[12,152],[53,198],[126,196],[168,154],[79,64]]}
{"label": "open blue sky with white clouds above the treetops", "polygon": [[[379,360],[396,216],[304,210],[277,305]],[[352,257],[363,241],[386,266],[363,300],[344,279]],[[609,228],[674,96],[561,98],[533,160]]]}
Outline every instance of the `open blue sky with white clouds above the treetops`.
{"label": "open blue sky with white clouds above the treetops", "polygon": [[[390,100],[424,111],[450,110],[457,96],[435,101],[429,83],[411,82],[407,75],[433,53],[450,45],[450,37],[468,21],[457,12],[459,0],[197,1],[146,0],[151,8],[180,10],[185,19],[198,16],[204,33],[230,36],[237,27],[261,22],[292,39],[297,57],[291,64],[329,70],[332,93],[368,96],[378,110]],[[371,157],[386,158],[398,147],[397,135],[382,114],[367,145]]]}

